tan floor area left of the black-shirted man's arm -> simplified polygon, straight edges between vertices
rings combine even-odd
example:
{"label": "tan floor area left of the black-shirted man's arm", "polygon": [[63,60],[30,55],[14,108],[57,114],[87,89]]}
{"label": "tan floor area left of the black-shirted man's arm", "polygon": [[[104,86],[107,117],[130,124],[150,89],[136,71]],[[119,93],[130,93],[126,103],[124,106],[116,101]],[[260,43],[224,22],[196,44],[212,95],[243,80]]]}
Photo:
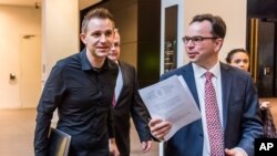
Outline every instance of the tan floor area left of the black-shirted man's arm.
{"label": "tan floor area left of the black-shirted man's arm", "polygon": [[33,156],[34,110],[0,111],[0,156]]}

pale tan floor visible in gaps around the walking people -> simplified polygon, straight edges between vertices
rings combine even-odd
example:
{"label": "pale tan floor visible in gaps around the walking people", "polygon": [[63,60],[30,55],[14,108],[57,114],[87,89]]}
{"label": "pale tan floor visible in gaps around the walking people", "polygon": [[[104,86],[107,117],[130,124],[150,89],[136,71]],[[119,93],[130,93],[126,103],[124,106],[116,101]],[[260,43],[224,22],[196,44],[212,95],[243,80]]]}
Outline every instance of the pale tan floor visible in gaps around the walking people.
{"label": "pale tan floor visible in gaps around the walking people", "polygon": [[[271,103],[271,114],[277,125],[277,98],[263,98]],[[33,156],[33,131],[35,110],[0,110],[0,156]],[[158,156],[158,144],[154,143],[147,154],[141,152],[137,134],[132,126],[131,156]]]}

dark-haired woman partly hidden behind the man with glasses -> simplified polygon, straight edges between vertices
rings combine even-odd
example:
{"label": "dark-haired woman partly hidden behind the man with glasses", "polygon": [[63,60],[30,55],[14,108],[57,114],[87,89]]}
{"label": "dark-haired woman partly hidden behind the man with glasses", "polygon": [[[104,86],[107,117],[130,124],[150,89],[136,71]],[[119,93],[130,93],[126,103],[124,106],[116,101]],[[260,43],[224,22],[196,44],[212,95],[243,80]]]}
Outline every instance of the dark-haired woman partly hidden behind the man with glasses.
{"label": "dark-haired woman partly hidden behind the man with glasses", "polygon": [[[248,72],[249,69],[249,53],[245,49],[233,49],[228,52],[226,62],[232,66],[236,66]],[[260,102],[259,108],[261,111],[261,118],[264,122],[264,137],[276,138],[276,126],[274,124],[273,115],[270,112],[269,102]]]}

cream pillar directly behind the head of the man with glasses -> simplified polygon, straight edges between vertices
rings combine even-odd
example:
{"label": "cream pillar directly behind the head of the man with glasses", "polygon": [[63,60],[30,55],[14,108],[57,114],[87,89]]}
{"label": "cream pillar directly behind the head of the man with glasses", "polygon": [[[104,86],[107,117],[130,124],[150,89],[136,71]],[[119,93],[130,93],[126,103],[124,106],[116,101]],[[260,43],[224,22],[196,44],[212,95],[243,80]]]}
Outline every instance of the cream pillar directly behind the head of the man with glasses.
{"label": "cream pillar directly behind the head of the man with glasses", "polygon": [[246,0],[185,0],[185,29],[195,14],[213,13],[220,15],[227,25],[219,59],[225,62],[226,54],[234,48],[246,46]]}

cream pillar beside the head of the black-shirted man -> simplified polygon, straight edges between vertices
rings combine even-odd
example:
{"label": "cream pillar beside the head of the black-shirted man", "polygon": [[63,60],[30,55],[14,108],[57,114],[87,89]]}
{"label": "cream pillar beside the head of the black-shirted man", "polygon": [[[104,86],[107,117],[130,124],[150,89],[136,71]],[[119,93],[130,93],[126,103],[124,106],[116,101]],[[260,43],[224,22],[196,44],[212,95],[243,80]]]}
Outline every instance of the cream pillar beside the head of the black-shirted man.
{"label": "cream pillar beside the head of the black-shirted man", "polygon": [[79,0],[42,1],[44,81],[58,60],[79,52]]}

